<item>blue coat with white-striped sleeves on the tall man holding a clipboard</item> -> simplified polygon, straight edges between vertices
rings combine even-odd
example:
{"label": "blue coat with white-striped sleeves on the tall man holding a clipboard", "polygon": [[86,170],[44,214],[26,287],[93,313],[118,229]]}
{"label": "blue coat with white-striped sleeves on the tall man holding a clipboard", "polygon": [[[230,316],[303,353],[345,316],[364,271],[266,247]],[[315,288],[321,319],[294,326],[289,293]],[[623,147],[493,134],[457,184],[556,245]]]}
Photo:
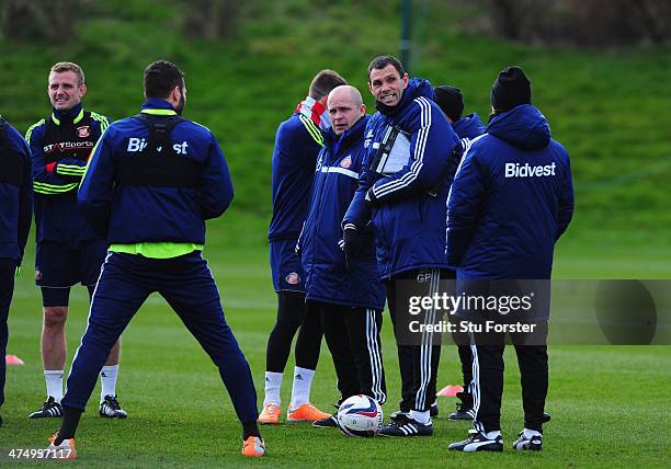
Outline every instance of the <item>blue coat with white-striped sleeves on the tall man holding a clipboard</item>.
{"label": "blue coat with white-striped sleeves on the tall man holding a clipboard", "polygon": [[[363,229],[372,220],[383,279],[414,268],[447,267],[445,202],[458,164],[460,145],[433,98],[429,81],[411,79],[400,103],[394,107],[378,103],[378,112],[366,127],[366,158],[343,225],[353,224]],[[369,161],[389,126],[411,135],[410,159],[397,173],[379,178],[369,171]],[[371,186],[380,204],[373,210],[365,202]],[[430,195],[436,186],[436,195]]]}

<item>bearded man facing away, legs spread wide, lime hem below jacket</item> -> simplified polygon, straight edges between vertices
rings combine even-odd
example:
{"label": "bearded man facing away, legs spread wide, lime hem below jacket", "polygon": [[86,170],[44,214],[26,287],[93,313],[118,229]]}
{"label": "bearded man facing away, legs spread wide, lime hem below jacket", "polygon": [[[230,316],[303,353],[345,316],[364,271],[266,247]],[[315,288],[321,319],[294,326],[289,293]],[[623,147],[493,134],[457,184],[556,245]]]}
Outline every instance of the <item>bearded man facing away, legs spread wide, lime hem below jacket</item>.
{"label": "bearded man facing away, legs spread wide, lime hem below jacket", "polygon": [[205,220],[219,217],[234,190],[214,135],[181,117],[184,75],[158,60],[145,70],[140,114],[112,124],[98,142],[79,204],[110,252],[49,449],[76,457],[75,432],[110,350],[147,297],[159,293],[219,369],[242,424],[242,454],[263,456],[249,365],[224,318],[202,250]]}

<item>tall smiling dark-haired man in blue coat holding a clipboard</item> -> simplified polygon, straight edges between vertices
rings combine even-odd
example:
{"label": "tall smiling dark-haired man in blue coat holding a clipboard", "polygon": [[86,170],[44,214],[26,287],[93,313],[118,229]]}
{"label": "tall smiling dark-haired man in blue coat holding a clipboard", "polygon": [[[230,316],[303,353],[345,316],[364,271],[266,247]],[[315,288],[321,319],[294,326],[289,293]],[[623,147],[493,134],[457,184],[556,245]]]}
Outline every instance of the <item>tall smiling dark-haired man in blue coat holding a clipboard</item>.
{"label": "tall smiling dark-haired man in blue coat holding a clipboard", "polygon": [[[371,221],[402,381],[400,412],[379,434],[429,436],[433,434],[430,408],[435,396],[431,376],[439,362],[440,338],[431,333],[408,336],[400,324],[409,319],[406,286],[412,284],[416,290],[434,295],[441,277],[454,278],[444,256],[445,202],[458,163],[454,153],[460,150],[459,139],[433,102],[431,83],[409,79],[397,58],[373,59],[368,89],[377,113],[366,126],[366,161],[343,219],[344,250],[349,262],[357,258],[361,237]],[[435,311],[424,311],[424,318],[435,320]]]}

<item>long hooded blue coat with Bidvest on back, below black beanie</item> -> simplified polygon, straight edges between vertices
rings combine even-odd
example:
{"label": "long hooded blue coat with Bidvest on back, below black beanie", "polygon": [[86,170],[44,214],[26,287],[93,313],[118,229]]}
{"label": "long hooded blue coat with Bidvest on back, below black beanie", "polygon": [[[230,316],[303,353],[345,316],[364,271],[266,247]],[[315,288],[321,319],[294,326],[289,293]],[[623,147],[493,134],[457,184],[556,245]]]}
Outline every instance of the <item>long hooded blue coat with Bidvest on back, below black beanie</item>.
{"label": "long hooded blue coat with Bidvest on back, below black beanie", "polygon": [[530,104],[493,117],[468,148],[447,202],[457,278],[549,278],[573,213],[569,156]]}

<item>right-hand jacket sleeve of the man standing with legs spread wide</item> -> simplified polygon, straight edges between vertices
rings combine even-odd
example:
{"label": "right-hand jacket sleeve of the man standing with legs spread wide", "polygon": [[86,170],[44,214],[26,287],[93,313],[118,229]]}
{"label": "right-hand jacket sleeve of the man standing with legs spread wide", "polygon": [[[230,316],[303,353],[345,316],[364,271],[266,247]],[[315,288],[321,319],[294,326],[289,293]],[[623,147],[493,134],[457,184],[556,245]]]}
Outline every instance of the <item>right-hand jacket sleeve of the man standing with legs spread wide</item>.
{"label": "right-hand jacket sleeve of the man standing with legs spread wide", "polygon": [[230,205],[234,187],[221,148],[211,134],[209,156],[201,168],[198,202],[204,220],[217,218]]}

